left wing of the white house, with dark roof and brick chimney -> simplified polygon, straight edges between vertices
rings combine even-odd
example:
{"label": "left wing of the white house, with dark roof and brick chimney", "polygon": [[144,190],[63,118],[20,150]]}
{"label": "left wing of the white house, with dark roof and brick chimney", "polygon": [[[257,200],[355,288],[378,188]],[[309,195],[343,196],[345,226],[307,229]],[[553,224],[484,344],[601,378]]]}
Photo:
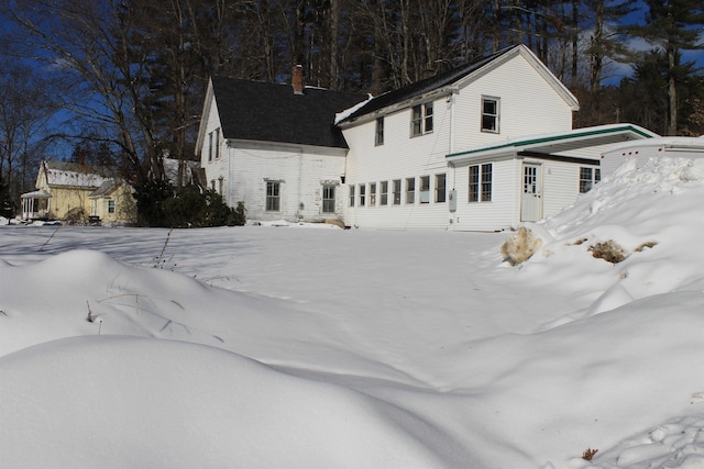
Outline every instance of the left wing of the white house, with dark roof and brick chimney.
{"label": "left wing of the white house, with dark roof and brick chimney", "polygon": [[342,220],[348,144],[336,113],[366,96],[212,77],[197,154],[208,186],[252,220]]}

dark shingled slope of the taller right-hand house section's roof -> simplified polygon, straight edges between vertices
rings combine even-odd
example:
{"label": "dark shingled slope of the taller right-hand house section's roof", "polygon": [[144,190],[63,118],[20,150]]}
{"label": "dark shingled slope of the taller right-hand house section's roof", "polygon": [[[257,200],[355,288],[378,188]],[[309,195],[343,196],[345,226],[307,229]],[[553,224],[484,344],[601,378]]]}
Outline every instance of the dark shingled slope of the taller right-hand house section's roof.
{"label": "dark shingled slope of the taller right-hand house section's roof", "polygon": [[428,93],[430,91],[437,90],[438,88],[446,87],[451,85],[465,76],[470,75],[472,71],[475,71],[486,64],[495,60],[502,55],[506,54],[510,49],[517,46],[506,47],[495,54],[492,54],[486,57],[477,58],[472,60],[465,65],[462,65],[458,68],[453,68],[452,70],[444,71],[442,74],[438,74],[435,77],[426,78],[425,80],[416,81],[415,83],[410,83],[397,90],[385,92],[384,94],[380,94],[372,99],[370,102],[348,115],[341,122],[348,122],[355,118],[359,118],[364,114],[369,114],[374,111],[378,111],[380,109],[386,108],[387,105],[396,104],[398,102],[404,102],[411,98],[416,98]]}

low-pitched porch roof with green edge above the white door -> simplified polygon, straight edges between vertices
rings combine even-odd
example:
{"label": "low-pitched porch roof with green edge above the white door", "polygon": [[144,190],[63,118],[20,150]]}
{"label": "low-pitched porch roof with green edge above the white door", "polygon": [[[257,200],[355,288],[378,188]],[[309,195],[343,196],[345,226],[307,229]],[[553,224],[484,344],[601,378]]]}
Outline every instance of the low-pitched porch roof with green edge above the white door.
{"label": "low-pitched porch roof with green edge above the white door", "polygon": [[[659,135],[635,124],[608,124],[574,129],[568,132],[529,135],[512,138],[501,144],[472,148],[446,156],[451,163],[486,158],[506,154],[526,154],[546,157],[572,157],[574,152],[634,139],[653,138]],[[592,156],[598,158],[598,155]]]}

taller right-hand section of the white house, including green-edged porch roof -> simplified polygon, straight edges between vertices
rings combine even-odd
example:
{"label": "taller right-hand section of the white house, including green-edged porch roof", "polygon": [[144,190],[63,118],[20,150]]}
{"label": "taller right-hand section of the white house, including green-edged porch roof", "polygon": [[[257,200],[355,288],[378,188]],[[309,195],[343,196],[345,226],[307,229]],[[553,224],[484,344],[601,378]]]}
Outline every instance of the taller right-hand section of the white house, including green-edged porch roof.
{"label": "taller right-hand section of the white house, including green-edged porch roof", "polygon": [[495,231],[554,214],[598,181],[605,145],[656,136],[572,130],[578,110],[522,45],[382,94],[339,122],[345,223]]}

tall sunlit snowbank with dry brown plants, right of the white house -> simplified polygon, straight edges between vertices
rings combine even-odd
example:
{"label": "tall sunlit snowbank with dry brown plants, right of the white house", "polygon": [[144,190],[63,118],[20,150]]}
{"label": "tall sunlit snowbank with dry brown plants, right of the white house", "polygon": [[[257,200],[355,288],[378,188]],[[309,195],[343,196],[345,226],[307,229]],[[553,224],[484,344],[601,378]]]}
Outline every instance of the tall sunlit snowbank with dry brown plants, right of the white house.
{"label": "tall sunlit snowbank with dry brown plants, right of the white house", "polygon": [[525,224],[543,247],[520,275],[569,288],[601,286],[606,297],[592,312],[689,289],[704,279],[702,200],[704,159],[659,157],[642,168],[627,160],[573,206]]}

